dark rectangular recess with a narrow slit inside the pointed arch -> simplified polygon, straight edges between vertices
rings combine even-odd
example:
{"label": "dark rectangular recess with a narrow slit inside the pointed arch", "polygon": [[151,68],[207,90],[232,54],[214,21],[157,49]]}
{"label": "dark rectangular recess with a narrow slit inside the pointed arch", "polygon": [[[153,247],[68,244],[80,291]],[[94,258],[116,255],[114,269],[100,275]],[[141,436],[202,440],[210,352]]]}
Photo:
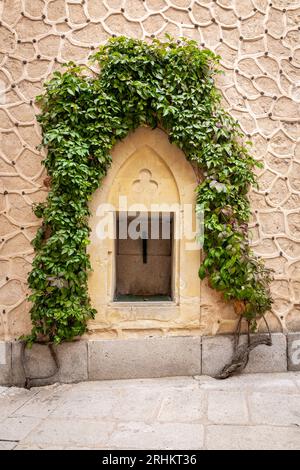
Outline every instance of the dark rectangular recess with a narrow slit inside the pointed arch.
{"label": "dark rectangular recess with a narrow slit inside the pointed arch", "polygon": [[117,215],[116,301],[172,299],[173,237],[172,213]]}

